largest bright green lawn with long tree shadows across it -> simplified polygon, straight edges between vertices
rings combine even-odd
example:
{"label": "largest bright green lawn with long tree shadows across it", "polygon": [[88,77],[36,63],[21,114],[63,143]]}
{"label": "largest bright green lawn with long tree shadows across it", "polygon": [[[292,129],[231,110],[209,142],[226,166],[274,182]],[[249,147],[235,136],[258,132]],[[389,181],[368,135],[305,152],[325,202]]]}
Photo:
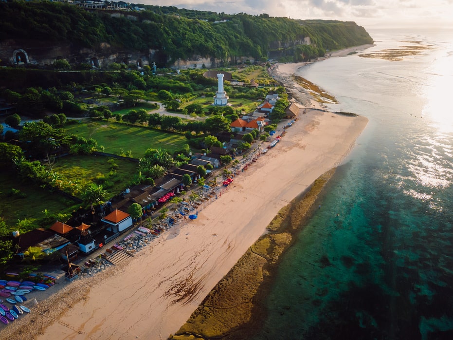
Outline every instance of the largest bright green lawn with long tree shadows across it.
{"label": "largest bright green lawn with long tree shadows across it", "polygon": [[106,120],[84,119],[81,123],[67,125],[68,132],[80,137],[93,138],[105,147],[105,152],[120,154],[132,151],[132,157],[141,158],[146,149],[163,149],[169,153],[180,151],[187,139],[179,133],[169,133],[146,127],[127,125]]}

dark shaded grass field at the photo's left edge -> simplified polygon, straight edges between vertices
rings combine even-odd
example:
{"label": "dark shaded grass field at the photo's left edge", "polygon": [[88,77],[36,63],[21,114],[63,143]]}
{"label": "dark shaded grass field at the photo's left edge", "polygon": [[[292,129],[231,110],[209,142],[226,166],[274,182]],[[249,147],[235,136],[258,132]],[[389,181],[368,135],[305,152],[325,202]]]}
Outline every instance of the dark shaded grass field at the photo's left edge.
{"label": "dark shaded grass field at the photo's left edge", "polygon": [[[13,174],[4,172],[0,174],[0,216],[5,219],[7,226],[13,227],[18,220],[25,218],[42,218],[45,216],[43,213],[45,209],[54,214],[76,204],[37,185],[22,184]],[[20,190],[25,197],[20,197],[19,194],[8,195],[11,189]]]}

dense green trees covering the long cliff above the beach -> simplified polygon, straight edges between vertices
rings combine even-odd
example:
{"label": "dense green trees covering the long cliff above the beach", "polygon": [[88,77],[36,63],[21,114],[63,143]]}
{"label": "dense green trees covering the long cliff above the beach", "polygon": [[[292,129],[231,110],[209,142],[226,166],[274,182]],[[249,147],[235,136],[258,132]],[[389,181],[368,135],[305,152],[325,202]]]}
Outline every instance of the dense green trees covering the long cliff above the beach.
{"label": "dense green trees covering the long cliff above the beach", "polygon": [[[0,2],[0,41],[31,39],[95,49],[108,43],[113,48],[155,49],[169,62],[194,55],[264,59],[271,51],[299,61],[324,56],[326,50],[372,43],[355,22],[145,8],[140,12],[89,12],[67,3]],[[223,21],[214,22],[218,19]],[[304,44],[307,37],[310,45]]]}

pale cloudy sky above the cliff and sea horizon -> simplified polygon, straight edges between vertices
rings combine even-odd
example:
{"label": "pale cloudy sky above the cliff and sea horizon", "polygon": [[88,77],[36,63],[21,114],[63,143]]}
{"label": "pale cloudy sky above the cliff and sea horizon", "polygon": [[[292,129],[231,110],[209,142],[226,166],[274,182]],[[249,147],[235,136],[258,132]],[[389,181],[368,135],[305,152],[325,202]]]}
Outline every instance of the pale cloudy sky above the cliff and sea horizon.
{"label": "pale cloudy sky above the cliff and sea horizon", "polygon": [[137,3],[291,19],[355,21],[365,27],[453,27],[453,0],[141,0]]}

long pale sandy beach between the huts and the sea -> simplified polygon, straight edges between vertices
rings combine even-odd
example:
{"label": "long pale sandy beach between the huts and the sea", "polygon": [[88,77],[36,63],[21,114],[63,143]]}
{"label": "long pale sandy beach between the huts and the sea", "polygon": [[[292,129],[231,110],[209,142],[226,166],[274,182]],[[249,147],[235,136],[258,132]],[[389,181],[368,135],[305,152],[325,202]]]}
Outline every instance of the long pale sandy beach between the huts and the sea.
{"label": "long pale sandy beach between the huts and the sea", "polygon": [[[294,86],[290,76],[301,66],[279,64],[276,78]],[[300,102],[310,102],[299,89],[296,92]],[[366,124],[364,117],[307,109],[281,142],[236,176],[198,219],[169,229],[127,263],[65,285],[37,307],[55,321],[40,316],[50,325],[38,326],[39,321],[30,323],[32,315],[15,321],[16,328],[27,329],[16,338],[167,339],[265,232],[277,212],[342,162]],[[6,339],[6,331],[0,338]]]}

